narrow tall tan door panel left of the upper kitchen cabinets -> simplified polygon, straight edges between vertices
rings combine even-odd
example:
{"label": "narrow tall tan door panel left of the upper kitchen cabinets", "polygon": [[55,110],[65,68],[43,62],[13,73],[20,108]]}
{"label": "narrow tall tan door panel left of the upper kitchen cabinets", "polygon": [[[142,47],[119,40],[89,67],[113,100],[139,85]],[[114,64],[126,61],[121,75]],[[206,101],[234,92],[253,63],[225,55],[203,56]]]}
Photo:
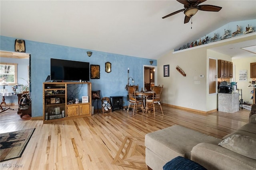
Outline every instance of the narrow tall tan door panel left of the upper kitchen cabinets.
{"label": "narrow tall tan door panel left of the upper kitchen cabinets", "polygon": [[216,93],[216,60],[209,59],[209,94]]}

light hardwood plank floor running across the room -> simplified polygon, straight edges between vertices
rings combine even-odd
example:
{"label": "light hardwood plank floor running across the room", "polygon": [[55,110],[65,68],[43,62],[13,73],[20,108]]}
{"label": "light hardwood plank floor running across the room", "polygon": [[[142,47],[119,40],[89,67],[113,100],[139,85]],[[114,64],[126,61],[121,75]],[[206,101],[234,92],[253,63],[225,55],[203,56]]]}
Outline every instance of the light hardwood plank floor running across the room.
{"label": "light hardwood plank floor running across the room", "polygon": [[[24,170],[132,170],[113,165],[118,149],[127,136],[144,138],[146,133],[172,125],[183,125],[222,138],[248,123],[248,110],[209,115],[162,106],[164,116],[153,113],[132,115],[132,111],[114,111],[91,117],[43,124],[20,118],[17,108],[0,114],[0,133],[36,128],[21,158],[0,163],[0,169]],[[143,154],[143,153],[142,153]],[[10,168],[3,168],[10,164]],[[14,168],[21,164],[22,168]]]}

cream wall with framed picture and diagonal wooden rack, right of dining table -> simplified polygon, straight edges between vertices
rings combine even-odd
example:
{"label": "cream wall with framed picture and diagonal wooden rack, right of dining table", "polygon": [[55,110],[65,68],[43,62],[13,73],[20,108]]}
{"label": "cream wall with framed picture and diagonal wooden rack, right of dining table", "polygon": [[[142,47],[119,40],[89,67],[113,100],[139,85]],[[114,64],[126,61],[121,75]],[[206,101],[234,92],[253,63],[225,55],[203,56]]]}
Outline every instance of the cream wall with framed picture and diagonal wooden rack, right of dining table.
{"label": "cream wall with framed picture and diagonal wooden rack, right of dining table", "polygon": [[[206,50],[201,49],[175,54],[170,51],[157,61],[158,84],[164,85],[163,103],[206,111],[206,55]],[[170,65],[169,77],[163,76],[163,66],[166,64]],[[177,65],[186,76],[176,70]],[[205,77],[200,78],[200,74]]]}

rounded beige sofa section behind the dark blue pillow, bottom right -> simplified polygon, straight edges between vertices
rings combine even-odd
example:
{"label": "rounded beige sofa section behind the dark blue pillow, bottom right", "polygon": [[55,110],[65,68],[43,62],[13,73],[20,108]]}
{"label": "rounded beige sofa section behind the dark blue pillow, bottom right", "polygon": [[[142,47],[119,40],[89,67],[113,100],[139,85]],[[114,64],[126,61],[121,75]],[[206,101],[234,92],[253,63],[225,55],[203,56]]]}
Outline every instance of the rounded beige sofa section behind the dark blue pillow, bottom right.
{"label": "rounded beige sofa section behind the dark blue pillow, bottom right", "polygon": [[191,160],[208,170],[256,169],[256,160],[209,143],[199,143],[194,146],[191,152]]}

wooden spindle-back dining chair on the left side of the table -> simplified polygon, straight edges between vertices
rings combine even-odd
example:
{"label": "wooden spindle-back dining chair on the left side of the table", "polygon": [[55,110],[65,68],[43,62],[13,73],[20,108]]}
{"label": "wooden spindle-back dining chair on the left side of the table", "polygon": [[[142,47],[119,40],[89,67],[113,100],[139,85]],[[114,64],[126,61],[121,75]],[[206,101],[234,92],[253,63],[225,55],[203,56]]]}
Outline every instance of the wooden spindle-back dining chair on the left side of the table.
{"label": "wooden spindle-back dining chair on the left side of the table", "polygon": [[134,86],[128,86],[128,95],[129,95],[129,107],[128,107],[127,112],[129,111],[130,106],[134,105],[132,115],[134,115],[135,106],[137,107],[137,109],[138,109],[138,106],[141,106],[142,112],[144,113],[143,100],[135,97],[136,95],[135,95],[135,87]]}

